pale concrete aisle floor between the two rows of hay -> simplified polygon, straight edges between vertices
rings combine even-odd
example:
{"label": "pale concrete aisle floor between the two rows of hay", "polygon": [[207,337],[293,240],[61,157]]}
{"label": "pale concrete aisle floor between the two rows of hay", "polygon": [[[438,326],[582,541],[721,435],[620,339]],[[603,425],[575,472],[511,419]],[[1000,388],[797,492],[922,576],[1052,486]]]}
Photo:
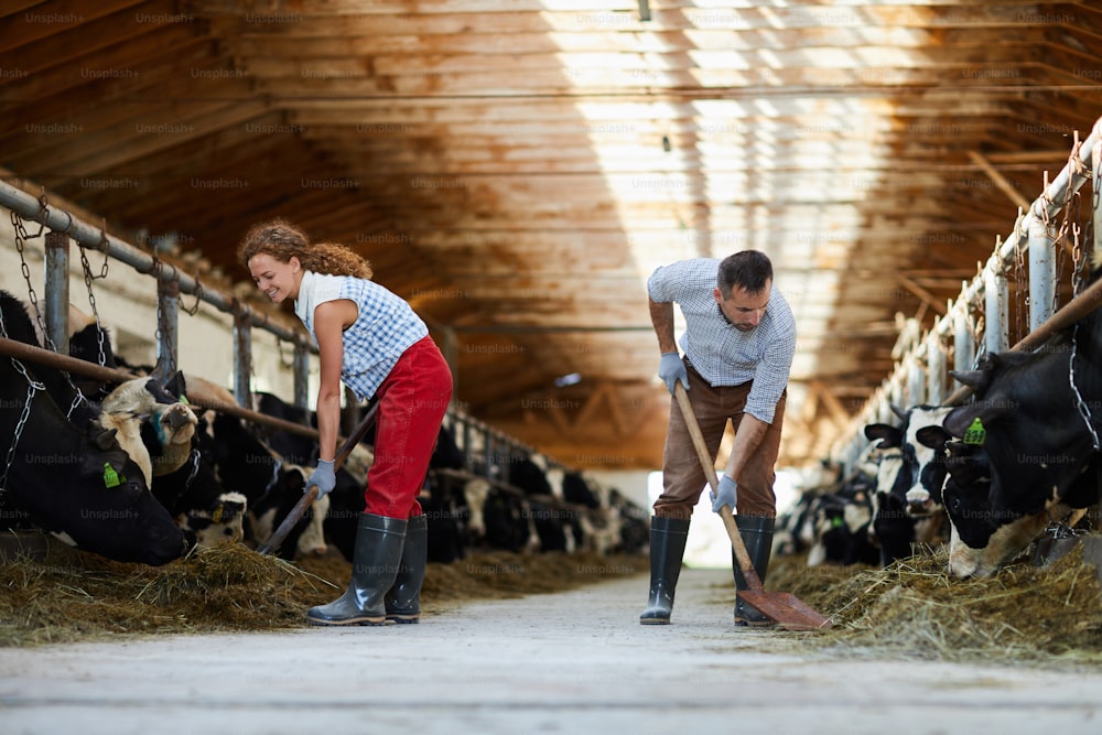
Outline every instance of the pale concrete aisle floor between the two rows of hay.
{"label": "pale concrete aisle floor between the two rows of hay", "polygon": [[[0,733],[1098,733],[1102,671],[831,657],[736,629],[730,571],[469,603],[417,626],[0,649]],[[730,588],[730,587],[727,587]],[[829,635],[829,634],[828,634]]]}

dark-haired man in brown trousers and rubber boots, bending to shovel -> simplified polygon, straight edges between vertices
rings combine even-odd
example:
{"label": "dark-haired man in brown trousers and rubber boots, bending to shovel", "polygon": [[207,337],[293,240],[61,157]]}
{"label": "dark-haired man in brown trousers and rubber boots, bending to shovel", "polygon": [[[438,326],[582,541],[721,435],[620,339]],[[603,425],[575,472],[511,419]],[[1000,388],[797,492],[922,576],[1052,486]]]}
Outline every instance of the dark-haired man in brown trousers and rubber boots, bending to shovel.
{"label": "dark-haired man in brown trousers and rubber boots, bending to shovel", "polygon": [[[777,498],[774,465],[780,451],[786,388],[796,353],[796,320],[773,284],[773,263],[755,250],[720,261],[682,260],[657,269],[647,281],[650,318],[661,350],[658,375],[673,393],[680,381],[715,457],[732,421],[735,441],[712,510],[737,514],[738,531],[764,581],[773,544]],[[684,357],[673,337],[673,304],[681,307]],[[650,597],[639,621],[666,625],[681,572],[689,520],[707,478],[677,401],[670,408],[662,495],[650,522]],[[746,581],[732,554],[735,590]],[[771,620],[737,598],[736,625]]]}

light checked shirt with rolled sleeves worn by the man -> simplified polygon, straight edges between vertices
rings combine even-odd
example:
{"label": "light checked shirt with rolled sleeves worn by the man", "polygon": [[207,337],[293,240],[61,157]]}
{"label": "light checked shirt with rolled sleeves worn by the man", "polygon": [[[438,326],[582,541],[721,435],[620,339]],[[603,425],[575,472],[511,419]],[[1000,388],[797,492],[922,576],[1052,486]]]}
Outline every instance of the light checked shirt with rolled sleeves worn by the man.
{"label": "light checked shirt with rolled sleeves worn by the man", "polygon": [[738,386],[753,380],[746,413],[773,423],[796,354],[796,318],[774,284],[769,305],[757,327],[739,332],[731,325],[713,290],[720,260],[693,258],[658,268],[647,281],[647,293],[659,303],[673,302],[685,317],[681,348],[693,369],[709,385]]}

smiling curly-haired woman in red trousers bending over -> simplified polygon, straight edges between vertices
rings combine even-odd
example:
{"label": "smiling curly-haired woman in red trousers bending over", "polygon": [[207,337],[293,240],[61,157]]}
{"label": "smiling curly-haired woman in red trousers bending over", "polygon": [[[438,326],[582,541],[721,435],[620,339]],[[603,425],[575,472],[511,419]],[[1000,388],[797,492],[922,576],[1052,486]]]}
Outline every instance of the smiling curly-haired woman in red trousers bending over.
{"label": "smiling curly-haired woman in red trousers bending over", "polygon": [[343,245],[311,242],[282,219],[255,225],[240,261],[274,303],[294,313],[317,342],[318,497],[335,484],[341,382],[360,399],[378,397],[375,462],[367,474],[348,590],[306,614],[313,625],[417,623],[426,559],[425,518],[417,496],[452,397],[452,374],[429,328],[406,301],[374,283],[371,268]]}

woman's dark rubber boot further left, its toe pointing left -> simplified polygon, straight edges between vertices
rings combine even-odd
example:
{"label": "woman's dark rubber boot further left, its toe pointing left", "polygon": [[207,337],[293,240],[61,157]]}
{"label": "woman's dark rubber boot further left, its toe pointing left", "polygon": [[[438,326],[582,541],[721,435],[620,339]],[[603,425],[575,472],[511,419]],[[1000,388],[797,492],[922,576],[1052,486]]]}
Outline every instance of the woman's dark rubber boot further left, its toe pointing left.
{"label": "woman's dark rubber boot further left, its toe pointing left", "polygon": [[311,607],[311,625],[382,625],[387,621],[385,597],[395,583],[406,541],[406,521],[372,514],[359,517],[352,581],[341,597],[328,605]]}

